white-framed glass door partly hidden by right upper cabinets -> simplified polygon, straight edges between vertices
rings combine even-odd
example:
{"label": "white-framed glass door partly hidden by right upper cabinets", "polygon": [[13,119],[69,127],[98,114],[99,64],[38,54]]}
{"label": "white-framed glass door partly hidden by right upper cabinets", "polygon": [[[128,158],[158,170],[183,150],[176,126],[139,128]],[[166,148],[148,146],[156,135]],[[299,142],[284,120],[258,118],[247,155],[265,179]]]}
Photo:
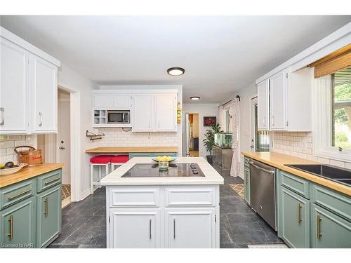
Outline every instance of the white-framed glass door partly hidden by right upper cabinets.
{"label": "white-framed glass door partly hidden by right upper cabinets", "polygon": [[270,133],[268,130],[258,130],[257,97],[250,100],[251,119],[251,151],[270,151]]}

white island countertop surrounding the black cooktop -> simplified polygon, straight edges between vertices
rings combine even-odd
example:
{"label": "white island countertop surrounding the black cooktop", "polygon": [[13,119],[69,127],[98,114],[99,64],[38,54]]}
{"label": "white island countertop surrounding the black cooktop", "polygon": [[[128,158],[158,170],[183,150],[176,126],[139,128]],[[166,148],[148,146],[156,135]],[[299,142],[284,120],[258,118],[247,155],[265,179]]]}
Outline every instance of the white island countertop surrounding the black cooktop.
{"label": "white island countertop surrounding the black cooktop", "polygon": [[203,157],[178,157],[172,163],[197,163],[204,177],[121,177],[137,163],[155,163],[150,157],[134,157],[102,178],[102,185],[224,184],[224,179]]}

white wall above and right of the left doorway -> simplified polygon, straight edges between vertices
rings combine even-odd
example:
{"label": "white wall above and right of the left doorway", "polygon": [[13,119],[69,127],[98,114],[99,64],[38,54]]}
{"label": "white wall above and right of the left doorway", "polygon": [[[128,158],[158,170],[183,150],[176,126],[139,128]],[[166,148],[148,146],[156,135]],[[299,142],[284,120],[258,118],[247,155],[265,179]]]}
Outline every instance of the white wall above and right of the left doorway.
{"label": "white wall above and right of the left doorway", "polygon": [[86,137],[86,130],[93,130],[91,125],[92,99],[91,90],[98,89],[97,83],[91,79],[81,76],[81,74],[70,69],[66,65],[61,65],[58,69],[58,85],[63,88],[77,90],[80,93],[80,116],[81,116],[81,194],[90,188],[90,158],[85,150],[96,147],[97,142],[92,142]]}

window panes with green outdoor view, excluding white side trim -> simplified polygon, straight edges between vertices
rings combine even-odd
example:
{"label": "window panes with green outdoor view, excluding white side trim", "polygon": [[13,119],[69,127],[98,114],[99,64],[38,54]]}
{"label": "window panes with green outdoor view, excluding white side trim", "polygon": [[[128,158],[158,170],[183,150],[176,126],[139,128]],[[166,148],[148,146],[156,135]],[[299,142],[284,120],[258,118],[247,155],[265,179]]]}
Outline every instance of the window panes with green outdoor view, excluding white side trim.
{"label": "window panes with green outdoor view, excluding white side trim", "polygon": [[331,74],[332,146],[351,149],[351,67]]}

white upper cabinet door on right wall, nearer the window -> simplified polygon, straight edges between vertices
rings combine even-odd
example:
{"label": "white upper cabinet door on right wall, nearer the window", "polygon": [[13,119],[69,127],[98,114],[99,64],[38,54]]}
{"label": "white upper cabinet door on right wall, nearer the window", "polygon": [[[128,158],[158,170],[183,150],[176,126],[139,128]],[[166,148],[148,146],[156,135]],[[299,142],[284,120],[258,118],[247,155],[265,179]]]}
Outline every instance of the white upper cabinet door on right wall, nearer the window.
{"label": "white upper cabinet door on right wall, nearer the window", "polygon": [[286,70],[270,77],[270,129],[286,130]]}

